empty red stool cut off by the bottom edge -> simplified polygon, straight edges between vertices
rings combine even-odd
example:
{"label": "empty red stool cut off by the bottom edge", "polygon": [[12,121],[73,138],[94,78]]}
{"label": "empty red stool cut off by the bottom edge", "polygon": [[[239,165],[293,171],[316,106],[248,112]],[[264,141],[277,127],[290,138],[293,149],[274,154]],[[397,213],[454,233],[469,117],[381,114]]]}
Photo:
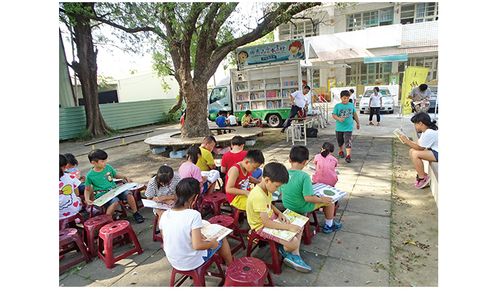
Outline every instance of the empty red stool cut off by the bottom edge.
{"label": "empty red stool cut off by the bottom edge", "polygon": [[[268,283],[265,284],[265,280]],[[258,258],[243,257],[233,261],[226,268],[226,280],[223,287],[275,287],[272,274],[265,262]]]}

